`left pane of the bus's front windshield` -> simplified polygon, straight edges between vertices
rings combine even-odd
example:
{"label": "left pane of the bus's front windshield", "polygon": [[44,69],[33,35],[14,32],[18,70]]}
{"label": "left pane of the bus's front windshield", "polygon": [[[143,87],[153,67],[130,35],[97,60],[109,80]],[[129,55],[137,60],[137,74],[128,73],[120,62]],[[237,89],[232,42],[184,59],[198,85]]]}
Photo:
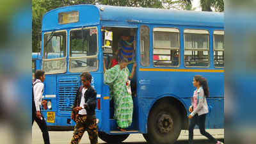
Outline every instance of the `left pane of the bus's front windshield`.
{"label": "left pane of the bus's front windshield", "polygon": [[44,34],[44,60],[45,74],[63,73],[67,70],[67,32],[58,31]]}

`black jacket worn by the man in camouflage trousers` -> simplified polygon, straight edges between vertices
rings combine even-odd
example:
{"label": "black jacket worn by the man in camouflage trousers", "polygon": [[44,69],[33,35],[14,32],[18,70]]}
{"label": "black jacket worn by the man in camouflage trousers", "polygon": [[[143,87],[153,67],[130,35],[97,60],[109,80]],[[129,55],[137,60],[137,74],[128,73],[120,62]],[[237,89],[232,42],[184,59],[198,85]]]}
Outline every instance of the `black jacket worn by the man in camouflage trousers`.
{"label": "black jacket worn by the man in camouflage trousers", "polygon": [[[77,106],[80,106],[82,89],[83,89],[83,86],[78,88],[76,93],[76,99],[74,100],[72,109]],[[86,109],[87,115],[95,115],[96,97],[97,97],[96,90],[92,86],[90,86],[89,88],[87,88],[83,96],[84,96],[84,105],[86,105],[84,107]]]}

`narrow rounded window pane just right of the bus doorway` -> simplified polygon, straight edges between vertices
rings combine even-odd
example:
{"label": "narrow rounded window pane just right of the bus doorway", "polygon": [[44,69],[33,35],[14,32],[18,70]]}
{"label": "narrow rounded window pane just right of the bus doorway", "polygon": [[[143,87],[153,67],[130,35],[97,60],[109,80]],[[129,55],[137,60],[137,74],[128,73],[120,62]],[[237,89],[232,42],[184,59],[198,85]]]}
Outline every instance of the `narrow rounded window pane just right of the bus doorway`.
{"label": "narrow rounded window pane just right of the bus doorway", "polygon": [[149,65],[149,28],[148,26],[140,27],[140,57],[141,65]]}

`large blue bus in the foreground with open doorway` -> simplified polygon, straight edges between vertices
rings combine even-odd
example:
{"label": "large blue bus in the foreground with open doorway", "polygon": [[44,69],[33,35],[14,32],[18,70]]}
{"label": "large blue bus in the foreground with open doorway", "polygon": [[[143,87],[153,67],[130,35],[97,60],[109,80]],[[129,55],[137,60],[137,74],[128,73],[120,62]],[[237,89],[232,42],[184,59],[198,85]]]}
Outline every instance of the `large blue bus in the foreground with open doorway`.
{"label": "large blue bus in the foreground with open doorway", "polygon": [[[81,85],[79,74],[90,72],[97,90],[99,138],[109,143],[141,133],[150,143],[174,143],[188,129],[193,76],[209,83],[210,129],[224,126],[224,15],[216,12],[159,10],[104,5],[57,8],[42,19],[42,110],[51,131],[72,130],[71,106]],[[122,31],[136,40],[136,76],[132,83],[131,127],[118,131],[113,100],[104,84],[103,59],[109,64]]]}

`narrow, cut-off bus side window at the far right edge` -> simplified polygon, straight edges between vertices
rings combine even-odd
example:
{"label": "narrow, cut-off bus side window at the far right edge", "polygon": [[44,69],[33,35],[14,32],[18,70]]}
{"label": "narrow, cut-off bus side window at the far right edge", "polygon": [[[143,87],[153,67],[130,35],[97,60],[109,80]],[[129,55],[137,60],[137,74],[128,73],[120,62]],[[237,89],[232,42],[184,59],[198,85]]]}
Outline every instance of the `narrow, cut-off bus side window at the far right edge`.
{"label": "narrow, cut-off bus side window at the far right edge", "polygon": [[214,66],[224,67],[224,31],[214,31]]}

